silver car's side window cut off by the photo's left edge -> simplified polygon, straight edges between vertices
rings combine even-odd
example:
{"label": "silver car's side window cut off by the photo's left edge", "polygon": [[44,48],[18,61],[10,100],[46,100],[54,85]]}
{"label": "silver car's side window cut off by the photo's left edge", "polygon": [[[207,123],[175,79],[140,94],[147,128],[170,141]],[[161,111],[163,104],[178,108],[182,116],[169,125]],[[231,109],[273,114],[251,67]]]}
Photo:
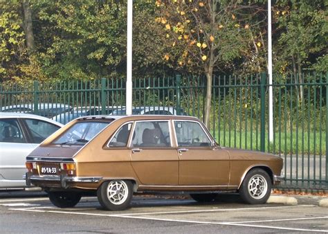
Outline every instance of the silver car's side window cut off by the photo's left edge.
{"label": "silver car's side window cut off by the photo's left edge", "polygon": [[7,143],[25,143],[21,127],[18,124],[17,119],[8,118],[0,119],[0,142]]}

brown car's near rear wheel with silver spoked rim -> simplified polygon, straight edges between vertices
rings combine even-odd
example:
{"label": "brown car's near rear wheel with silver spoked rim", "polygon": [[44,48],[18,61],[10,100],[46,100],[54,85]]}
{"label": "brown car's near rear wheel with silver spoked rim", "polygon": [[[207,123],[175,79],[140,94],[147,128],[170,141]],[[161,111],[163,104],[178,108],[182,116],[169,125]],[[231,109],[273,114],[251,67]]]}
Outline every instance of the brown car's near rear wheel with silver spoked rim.
{"label": "brown car's near rear wheel with silver spoked rim", "polygon": [[100,205],[105,210],[125,210],[129,208],[133,196],[131,181],[105,181],[97,190]]}

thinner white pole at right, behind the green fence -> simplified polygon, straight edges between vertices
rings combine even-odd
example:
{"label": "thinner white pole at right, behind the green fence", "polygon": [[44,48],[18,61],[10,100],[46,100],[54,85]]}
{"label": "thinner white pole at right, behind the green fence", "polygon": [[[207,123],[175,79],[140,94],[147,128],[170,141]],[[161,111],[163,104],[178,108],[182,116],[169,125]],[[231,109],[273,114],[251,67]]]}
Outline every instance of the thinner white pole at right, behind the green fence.
{"label": "thinner white pole at right, behind the green fence", "polygon": [[268,0],[268,139],[273,142],[271,0]]}

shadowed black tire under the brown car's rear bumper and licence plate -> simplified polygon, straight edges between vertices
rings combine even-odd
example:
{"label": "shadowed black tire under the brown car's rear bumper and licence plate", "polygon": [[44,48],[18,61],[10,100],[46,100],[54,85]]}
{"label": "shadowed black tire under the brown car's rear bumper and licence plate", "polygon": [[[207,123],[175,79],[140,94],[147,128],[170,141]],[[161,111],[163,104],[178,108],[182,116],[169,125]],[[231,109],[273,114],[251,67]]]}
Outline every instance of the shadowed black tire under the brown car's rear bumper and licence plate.
{"label": "shadowed black tire under the brown car's rear bumper and licence plate", "polygon": [[81,199],[79,192],[48,192],[48,196],[51,203],[60,208],[74,207]]}

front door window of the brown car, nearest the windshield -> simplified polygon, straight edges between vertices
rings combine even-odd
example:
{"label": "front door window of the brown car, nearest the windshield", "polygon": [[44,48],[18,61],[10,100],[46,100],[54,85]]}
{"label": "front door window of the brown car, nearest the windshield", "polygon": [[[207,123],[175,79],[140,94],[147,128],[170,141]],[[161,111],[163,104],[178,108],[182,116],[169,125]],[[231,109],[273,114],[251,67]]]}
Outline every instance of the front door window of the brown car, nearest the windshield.
{"label": "front door window of the brown car, nearest the windshield", "polygon": [[174,121],[178,146],[206,147],[211,145],[201,125],[192,121]]}

